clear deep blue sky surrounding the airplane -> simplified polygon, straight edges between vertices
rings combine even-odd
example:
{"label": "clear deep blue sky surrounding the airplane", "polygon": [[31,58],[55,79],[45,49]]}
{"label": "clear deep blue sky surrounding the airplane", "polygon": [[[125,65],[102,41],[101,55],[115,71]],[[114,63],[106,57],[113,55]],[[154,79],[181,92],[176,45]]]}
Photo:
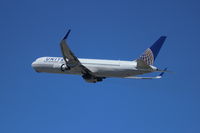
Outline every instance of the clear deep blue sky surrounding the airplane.
{"label": "clear deep blue sky surrounding the airplane", "polygon": [[[1,0],[0,133],[199,133],[198,0]],[[78,57],[133,60],[168,36],[160,80],[38,74],[71,28]]]}

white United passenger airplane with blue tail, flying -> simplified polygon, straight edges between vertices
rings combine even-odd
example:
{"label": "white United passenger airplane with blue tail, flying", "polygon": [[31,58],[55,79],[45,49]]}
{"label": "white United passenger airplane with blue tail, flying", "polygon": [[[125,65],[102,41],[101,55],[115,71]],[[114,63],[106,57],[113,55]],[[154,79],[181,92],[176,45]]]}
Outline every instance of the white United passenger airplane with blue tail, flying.
{"label": "white United passenger airplane with blue tail, flying", "polygon": [[[89,83],[103,81],[106,78],[131,78],[131,79],[160,79],[164,70],[153,66],[153,63],[166,40],[161,36],[150,48],[132,61],[103,60],[77,58],[68,46],[67,38],[71,30],[68,30],[60,42],[62,57],[40,57],[33,63],[36,72],[60,73],[81,75]],[[161,72],[155,77],[137,77],[137,75]]]}

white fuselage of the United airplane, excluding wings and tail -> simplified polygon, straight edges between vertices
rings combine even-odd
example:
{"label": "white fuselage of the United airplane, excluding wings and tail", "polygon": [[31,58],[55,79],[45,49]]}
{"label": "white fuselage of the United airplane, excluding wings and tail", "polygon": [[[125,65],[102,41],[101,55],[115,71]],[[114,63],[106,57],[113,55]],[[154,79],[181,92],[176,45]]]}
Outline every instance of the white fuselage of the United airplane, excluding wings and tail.
{"label": "white fuselage of the United airplane, excluding wings and tail", "polygon": [[[82,65],[87,67],[98,77],[128,77],[144,73],[150,73],[156,70],[152,67],[151,71],[141,71],[137,69],[136,61],[119,60],[101,60],[101,59],[83,59],[79,58]],[[32,63],[32,67],[37,72],[63,73],[82,75],[79,69],[62,70],[65,61],[62,57],[40,57]]]}

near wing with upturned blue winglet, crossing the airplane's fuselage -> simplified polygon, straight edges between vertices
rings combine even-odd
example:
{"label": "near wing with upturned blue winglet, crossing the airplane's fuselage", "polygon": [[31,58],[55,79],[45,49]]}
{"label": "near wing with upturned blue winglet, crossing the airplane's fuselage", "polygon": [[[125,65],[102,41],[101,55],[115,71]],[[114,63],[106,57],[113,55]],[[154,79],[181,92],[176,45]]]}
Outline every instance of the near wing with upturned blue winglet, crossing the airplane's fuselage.
{"label": "near wing with upturned blue winglet, crossing the airplane's fuselage", "polygon": [[85,66],[81,64],[81,62],[78,60],[78,58],[74,55],[74,53],[70,50],[69,46],[67,45],[66,39],[69,36],[71,30],[67,32],[63,40],[60,42],[60,47],[63,55],[63,59],[66,63],[66,65],[69,68],[76,68],[80,69],[80,71],[83,74],[89,74],[91,76],[94,76],[94,74]]}

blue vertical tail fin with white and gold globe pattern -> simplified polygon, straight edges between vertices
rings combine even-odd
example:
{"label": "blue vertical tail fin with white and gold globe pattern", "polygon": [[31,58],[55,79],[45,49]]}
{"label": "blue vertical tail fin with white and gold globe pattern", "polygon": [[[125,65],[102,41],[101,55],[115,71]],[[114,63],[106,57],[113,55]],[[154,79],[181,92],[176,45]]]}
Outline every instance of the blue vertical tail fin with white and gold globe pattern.
{"label": "blue vertical tail fin with white and gold globe pattern", "polygon": [[161,36],[150,48],[148,48],[139,57],[139,59],[143,60],[147,65],[153,65],[166,38],[166,36]]}

